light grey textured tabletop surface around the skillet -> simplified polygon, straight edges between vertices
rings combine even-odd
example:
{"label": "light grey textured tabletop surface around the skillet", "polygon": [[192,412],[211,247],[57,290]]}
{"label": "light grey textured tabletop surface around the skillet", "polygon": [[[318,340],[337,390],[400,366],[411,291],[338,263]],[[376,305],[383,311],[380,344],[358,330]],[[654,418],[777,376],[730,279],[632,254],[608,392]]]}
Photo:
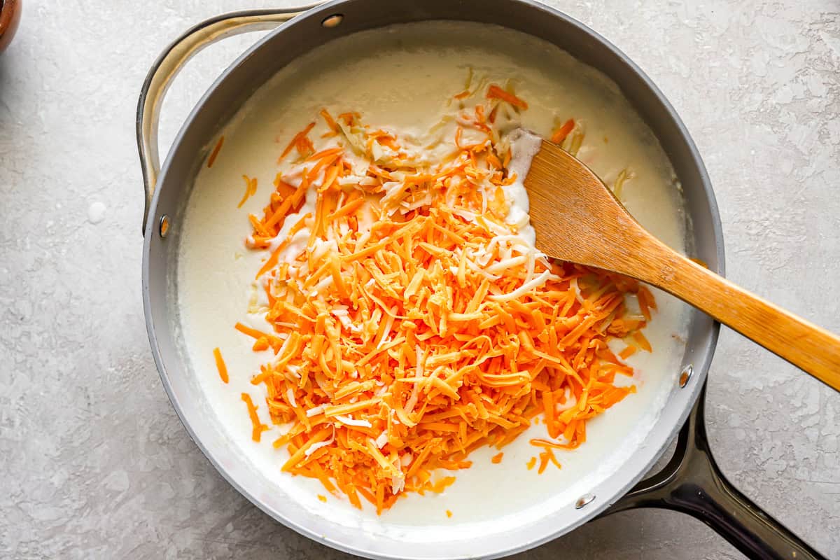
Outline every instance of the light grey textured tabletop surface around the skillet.
{"label": "light grey textured tabletop surface around the skillet", "polygon": [[[134,109],[183,29],[256,0],[25,0],[0,56],[0,557],[343,558],[263,515],[187,436],[140,301]],[[834,0],[553,2],[656,81],[711,174],[729,276],[840,331]],[[199,56],[163,145],[253,38]],[[840,557],[840,395],[724,331],[709,382],[726,473]],[[739,557],[698,521],[634,511],[520,558]]]}

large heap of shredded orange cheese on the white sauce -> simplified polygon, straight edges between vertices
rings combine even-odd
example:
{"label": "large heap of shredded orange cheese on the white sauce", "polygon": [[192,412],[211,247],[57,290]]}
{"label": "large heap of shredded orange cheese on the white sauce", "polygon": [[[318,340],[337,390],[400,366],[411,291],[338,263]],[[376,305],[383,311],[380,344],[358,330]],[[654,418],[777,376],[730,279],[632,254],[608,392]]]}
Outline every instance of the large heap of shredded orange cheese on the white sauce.
{"label": "large heap of shredded orange cheese on the white sauce", "polygon": [[[451,155],[433,164],[360,113],[324,109],[318,149],[311,123],[281,154],[297,149],[263,215],[251,217],[247,244],[265,250],[266,327],[236,328],[274,353],[252,379],[271,421],[291,425],[274,447],[289,454],[284,471],[356,507],[364,499],[381,512],[407,492],[443,492],[455,478],[442,470],[469,468],[474,449],[501,449],[538,415],[549,439],[531,440],[541,451],[528,469],[559,468],[554,450],[583,444],[586,422],[635,391],[614,382],[633,369],[608,343],[650,350],[640,332],[655,309],[647,289],[549,260],[507,223],[505,189],[517,178],[495,127],[517,112],[496,108],[528,103],[496,85],[486,99],[489,114],[459,109]],[[627,312],[628,295],[642,315]],[[246,396],[259,441],[267,427]]]}

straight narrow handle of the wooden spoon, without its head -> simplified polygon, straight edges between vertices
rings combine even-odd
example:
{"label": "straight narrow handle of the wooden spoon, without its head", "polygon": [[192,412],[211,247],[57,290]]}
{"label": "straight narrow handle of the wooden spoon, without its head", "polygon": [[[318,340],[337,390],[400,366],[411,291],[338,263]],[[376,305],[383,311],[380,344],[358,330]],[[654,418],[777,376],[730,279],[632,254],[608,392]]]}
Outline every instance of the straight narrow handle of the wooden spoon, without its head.
{"label": "straight narrow handle of the wooden spoon, without its head", "polygon": [[[648,244],[649,243],[649,244]],[[705,311],[840,391],[840,338],[686,259],[651,237],[627,270]]]}

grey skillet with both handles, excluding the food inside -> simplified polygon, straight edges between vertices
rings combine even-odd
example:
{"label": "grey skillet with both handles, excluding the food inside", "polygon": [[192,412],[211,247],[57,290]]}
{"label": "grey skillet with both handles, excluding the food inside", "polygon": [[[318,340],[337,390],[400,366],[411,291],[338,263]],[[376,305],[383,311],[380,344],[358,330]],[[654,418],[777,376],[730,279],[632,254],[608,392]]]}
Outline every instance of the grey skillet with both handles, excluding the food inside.
{"label": "grey skillet with both handles, excluding the food inside", "polygon": [[[664,507],[696,516],[750,557],[820,557],[734,489],[711,456],[703,424],[703,387],[718,327],[700,313],[691,317],[683,368],[679,375],[674,372],[676,380],[667,403],[650,427],[644,444],[617,465],[610,476],[559,505],[550,515],[547,512],[506,530],[490,532],[477,526],[457,539],[418,541],[400,531],[386,531],[388,527],[365,526],[360,531],[358,526],[329,522],[317,512],[299,507],[267,479],[255,476],[247,461],[207,421],[202,390],[179,351],[179,345],[185,341],[177,327],[177,301],[172,289],[179,224],[207,144],[257,87],[298,56],[356,31],[429,19],[499,24],[532,34],[612,78],[653,130],[680,178],[686,212],[694,225],[690,244],[696,256],[712,270],[722,272],[722,233],[716,203],[706,170],[685,127],[631,60],[564,14],[526,0],[345,0],[305,13],[251,11],[208,20],[171,44],[155,62],[143,86],[137,120],[146,186],[146,322],[163,384],[198,447],[235,488],[270,516],[328,546],[366,557],[500,557],[537,546],[593,517],[634,507]],[[159,174],[156,127],[160,102],[181,65],[215,40],[278,24],[278,29],[240,56],[202,97],[181,128]],[[677,451],[668,466],[639,482],[678,432]]]}

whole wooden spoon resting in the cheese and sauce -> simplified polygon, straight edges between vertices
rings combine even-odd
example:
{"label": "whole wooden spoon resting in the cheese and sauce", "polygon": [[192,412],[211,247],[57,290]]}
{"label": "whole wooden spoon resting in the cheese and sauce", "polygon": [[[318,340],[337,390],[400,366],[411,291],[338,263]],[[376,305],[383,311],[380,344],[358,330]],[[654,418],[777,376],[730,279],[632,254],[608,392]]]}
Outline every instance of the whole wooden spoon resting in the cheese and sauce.
{"label": "whole wooden spoon resting in the cheese and sauce", "polygon": [[840,338],[670,249],[556,144],[527,131],[512,140],[535,153],[524,184],[537,249],[655,285],[840,391]]}

